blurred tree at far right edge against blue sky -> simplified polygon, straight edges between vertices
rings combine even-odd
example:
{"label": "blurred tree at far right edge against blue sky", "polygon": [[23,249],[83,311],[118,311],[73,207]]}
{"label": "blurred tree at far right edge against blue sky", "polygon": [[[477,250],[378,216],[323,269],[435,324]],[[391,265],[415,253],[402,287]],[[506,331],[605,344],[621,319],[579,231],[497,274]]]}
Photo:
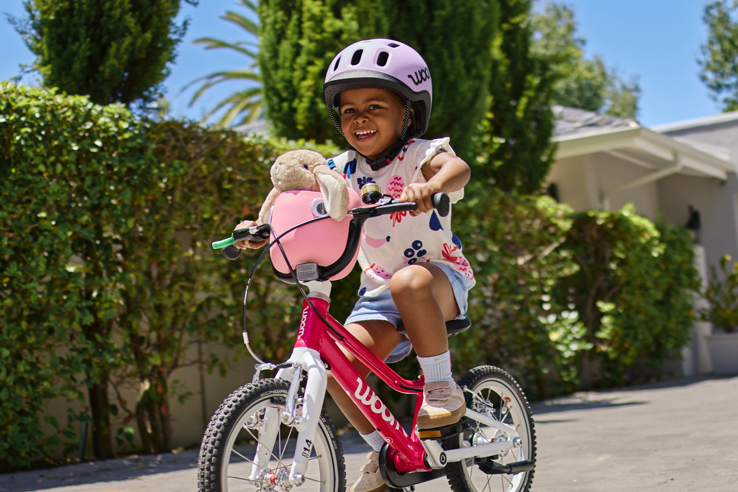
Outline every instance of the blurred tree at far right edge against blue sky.
{"label": "blurred tree at far right edge against blue sky", "polygon": [[723,111],[738,109],[738,1],[717,0],[705,6],[703,21],[707,24],[707,43],[701,46],[697,60],[702,67],[700,79],[711,91],[713,100]]}

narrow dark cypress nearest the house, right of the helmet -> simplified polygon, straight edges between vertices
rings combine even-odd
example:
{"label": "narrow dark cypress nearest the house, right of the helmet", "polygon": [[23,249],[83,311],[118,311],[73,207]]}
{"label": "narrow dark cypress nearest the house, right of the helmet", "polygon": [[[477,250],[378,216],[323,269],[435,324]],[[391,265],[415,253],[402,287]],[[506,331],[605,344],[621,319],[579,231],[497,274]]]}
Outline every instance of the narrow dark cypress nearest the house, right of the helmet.
{"label": "narrow dark cypress nearest the house, right of the helmet", "polygon": [[472,172],[500,190],[535,193],[554,160],[550,102],[559,74],[531,50],[530,0],[497,0],[489,109]]}

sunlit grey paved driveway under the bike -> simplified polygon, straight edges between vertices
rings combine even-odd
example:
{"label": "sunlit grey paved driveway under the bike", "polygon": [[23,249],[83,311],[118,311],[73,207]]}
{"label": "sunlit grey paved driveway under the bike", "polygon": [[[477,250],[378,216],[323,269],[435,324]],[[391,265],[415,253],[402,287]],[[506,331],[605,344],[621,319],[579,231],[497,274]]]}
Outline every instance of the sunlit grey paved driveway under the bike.
{"label": "sunlit grey paved driveway under the bike", "polygon": [[[533,491],[738,492],[738,378],[683,379],[534,405]],[[345,443],[348,482],[367,449]],[[195,491],[196,451],[0,475],[0,492]],[[297,489],[296,489],[297,490]],[[444,479],[418,492],[447,492]]]}

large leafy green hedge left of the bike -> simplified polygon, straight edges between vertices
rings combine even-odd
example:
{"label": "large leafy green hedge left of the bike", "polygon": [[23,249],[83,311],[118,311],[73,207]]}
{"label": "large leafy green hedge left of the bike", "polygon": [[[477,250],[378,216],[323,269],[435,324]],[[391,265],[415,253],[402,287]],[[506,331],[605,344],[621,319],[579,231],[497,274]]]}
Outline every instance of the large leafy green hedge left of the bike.
{"label": "large leafy green hedge left of the bike", "polygon": [[[111,456],[112,437],[131,436],[110,434],[120,413],[144,451],[171,449],[169,405],[189,393],[168,381],[193,363],[190,344],[243,347],[240,299],[255,254],[227,262],[210,242],[255,218],[272,186],[271,159],[305,145],[140,121],[120,105],[2,83],[2,468],[29,465],[62,433],[75,448],[71,428],[40,430],[38,412],[60,395],[91,407],[97,457]],[[266,263],[251,292],[260,307],[252,342],[282,357],[296,333],[294,291]],[[227,361],[205,358],[225,371]],[[108,384],[130,383],[147,388],[139,401],[108,401]]]}

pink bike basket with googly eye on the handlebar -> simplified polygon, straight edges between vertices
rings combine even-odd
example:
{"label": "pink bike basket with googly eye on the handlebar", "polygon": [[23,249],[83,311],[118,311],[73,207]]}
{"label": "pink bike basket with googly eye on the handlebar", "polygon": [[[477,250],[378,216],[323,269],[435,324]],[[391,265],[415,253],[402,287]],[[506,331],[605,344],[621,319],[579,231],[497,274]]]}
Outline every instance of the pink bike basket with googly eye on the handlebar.
{"label": "pink bike basket with googly eye on the handlebar", "polygon": [[[325,215],[325,208],[320,207],[322,204],[323,195],[320,192],[283,191],[277,195],[269,223],[272,224],[272,228],[277,232],[277,235],[280,235],[292,226]],[[359,195],[348,188],[348,209],[360,206]],[[351,220],[351,215],[346,215],[340,222],[327,218],[324,221],[317,221],[294,229],[294,231],[280,239],[284,252],[289,259],[290,268],[287,267],[282,252],[276,244],[269,251],[272,257],[272,265],[283,274],[289,274],[290,270],[294,270],[301,263],[317,263],[320,266],[331,265],[341,257],[346,248],[348,224],[351,224]],[[275,240],[274,233],[269,239]],[[354,260],[338,274],[331,277],[330,280],[339,280],[348,275],[351,268],[354,268],[358,256],[359,249],[356,248]]]}

